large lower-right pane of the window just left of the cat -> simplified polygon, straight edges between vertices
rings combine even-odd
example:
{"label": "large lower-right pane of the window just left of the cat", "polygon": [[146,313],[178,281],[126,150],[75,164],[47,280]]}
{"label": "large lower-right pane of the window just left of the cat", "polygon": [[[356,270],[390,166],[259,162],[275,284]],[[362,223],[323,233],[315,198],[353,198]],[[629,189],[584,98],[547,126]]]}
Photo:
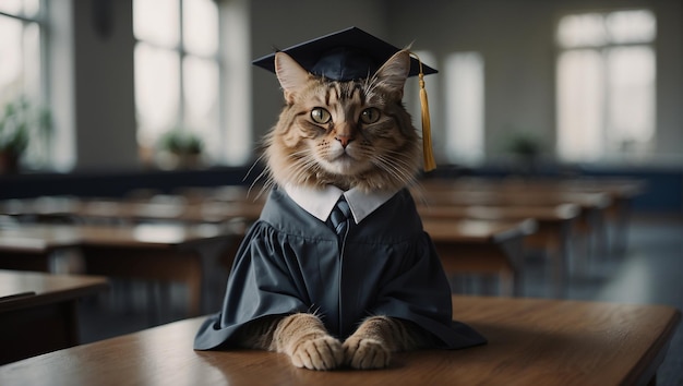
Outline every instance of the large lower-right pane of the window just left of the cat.
{"label": "large lower-right pane of the window just left of the cat", "polygon": [[218,65],[212,60],[187,57],[183,71],[185,124],[201,133],[208,154],[219,155]]}

